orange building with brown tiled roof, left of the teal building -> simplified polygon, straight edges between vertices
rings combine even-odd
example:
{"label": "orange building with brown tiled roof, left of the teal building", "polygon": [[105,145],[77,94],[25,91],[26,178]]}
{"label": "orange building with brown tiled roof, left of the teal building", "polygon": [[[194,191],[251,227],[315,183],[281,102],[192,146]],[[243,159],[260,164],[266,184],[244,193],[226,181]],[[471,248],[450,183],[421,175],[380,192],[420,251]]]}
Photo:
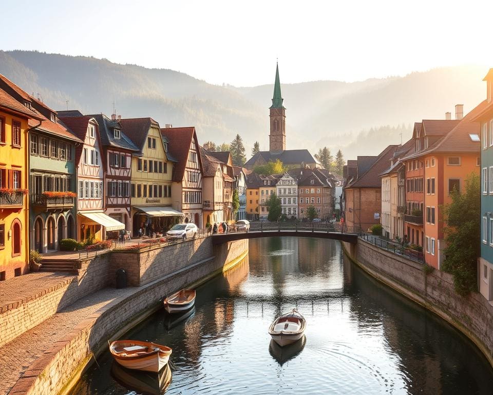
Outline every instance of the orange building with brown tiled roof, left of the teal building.
{"label": "orange building with brown tiled roof, left of the teal building", "polygon": [[[415,152],[405,158],[408,170],[405,234],[408,241],[423,246],[425,262],[438,269],[445,258],[441,207],[450,203],[449,194],[454,188],[463,190],[470,173],[480,172],[480,125],[471,119],[484,105],[485,102],[481,103],[463,119],[462,105],[458,105],[456,120],[423,120],[421,130],[413,134]],[[417,191],[412,189],[416,185]],[[421,212],[409,212],[412,207],[420,207]]]}

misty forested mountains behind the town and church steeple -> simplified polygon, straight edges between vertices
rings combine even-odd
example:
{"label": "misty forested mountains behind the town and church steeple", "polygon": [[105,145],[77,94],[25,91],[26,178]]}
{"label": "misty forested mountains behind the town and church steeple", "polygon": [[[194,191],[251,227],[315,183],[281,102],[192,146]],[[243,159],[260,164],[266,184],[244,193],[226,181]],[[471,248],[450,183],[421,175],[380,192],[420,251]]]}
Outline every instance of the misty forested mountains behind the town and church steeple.
{"label": "misty forested mountains behind the town and church steeple", "polygon": [[[432,69],[405,77],[361,82],[282,84],[287,147],[312,153],[328,146],[346,159],[374,155],[411,134],[415,121],[441,119],[453,105],[467,112],[485,98],[487,67]],[[208,84],[178,71],[121,65],[105,59],[33,51],[0,51],[0,73],[55,110],[122,117],[151,116],[162,126],[195,125],[200,142],[230,142],[238,133],[247,153],[269,146],[273,85]],[[274,82],[275,67],[272,69]],[[386,126],[387,125],[387,126]]]}

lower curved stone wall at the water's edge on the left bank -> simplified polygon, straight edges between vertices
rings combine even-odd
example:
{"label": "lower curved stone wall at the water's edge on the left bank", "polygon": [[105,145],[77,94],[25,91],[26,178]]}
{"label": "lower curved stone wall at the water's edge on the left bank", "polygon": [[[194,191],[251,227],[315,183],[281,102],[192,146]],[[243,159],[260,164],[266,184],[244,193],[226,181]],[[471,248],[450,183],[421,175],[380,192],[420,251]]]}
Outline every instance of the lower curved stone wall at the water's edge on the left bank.
{"label": "lower curved stone wall at the water's edge on the left bank", "polygon": [[214,252],[217,253],[216,257],[206,257],[148,282],[136,288],[131,296],[117,298],[83,320],[30,366],[10,394],[67,393],[79,380],[92,357],[106,349],[108,339],[118,338],[160,308],[165,292],[174,292],[188,284],[203,281],[236,264],[248,253],[248,240],[215,246]]}

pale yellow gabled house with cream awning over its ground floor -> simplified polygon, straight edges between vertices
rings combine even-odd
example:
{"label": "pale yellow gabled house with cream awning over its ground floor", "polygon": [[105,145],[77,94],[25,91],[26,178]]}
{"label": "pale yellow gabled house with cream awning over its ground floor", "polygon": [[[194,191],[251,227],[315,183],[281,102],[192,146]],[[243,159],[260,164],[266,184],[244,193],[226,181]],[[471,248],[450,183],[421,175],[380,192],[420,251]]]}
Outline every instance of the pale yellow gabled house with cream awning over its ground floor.
{"label": "pale yellow gabled house with cream awning over its ground floor", "polygon": [[[122,131],[140,152],[132,155],[131,222],[133,235],[139,230],[152,236],[164,234],[181,222],[183,214],[172,208],[172,178],[175,159],[168,154],[168,141],[152,118],[121,119]],[[180,199],[181,196],[177,196]]]}

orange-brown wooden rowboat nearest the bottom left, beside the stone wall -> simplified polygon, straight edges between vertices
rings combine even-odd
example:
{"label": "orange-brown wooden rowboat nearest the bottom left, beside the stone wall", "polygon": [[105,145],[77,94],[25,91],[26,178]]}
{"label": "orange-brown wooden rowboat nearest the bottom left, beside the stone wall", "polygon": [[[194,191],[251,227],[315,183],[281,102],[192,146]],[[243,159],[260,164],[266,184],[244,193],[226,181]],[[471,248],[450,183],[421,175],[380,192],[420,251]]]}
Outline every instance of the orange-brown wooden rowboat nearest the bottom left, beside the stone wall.
{"label": "orange-brown wooden rowboat nearest the bottom left, beside the stone wall", "polygon": [[109,345],[109,352],[125,368],[157,373],[168,363],[172,349],[139,340],[117,340]]}

